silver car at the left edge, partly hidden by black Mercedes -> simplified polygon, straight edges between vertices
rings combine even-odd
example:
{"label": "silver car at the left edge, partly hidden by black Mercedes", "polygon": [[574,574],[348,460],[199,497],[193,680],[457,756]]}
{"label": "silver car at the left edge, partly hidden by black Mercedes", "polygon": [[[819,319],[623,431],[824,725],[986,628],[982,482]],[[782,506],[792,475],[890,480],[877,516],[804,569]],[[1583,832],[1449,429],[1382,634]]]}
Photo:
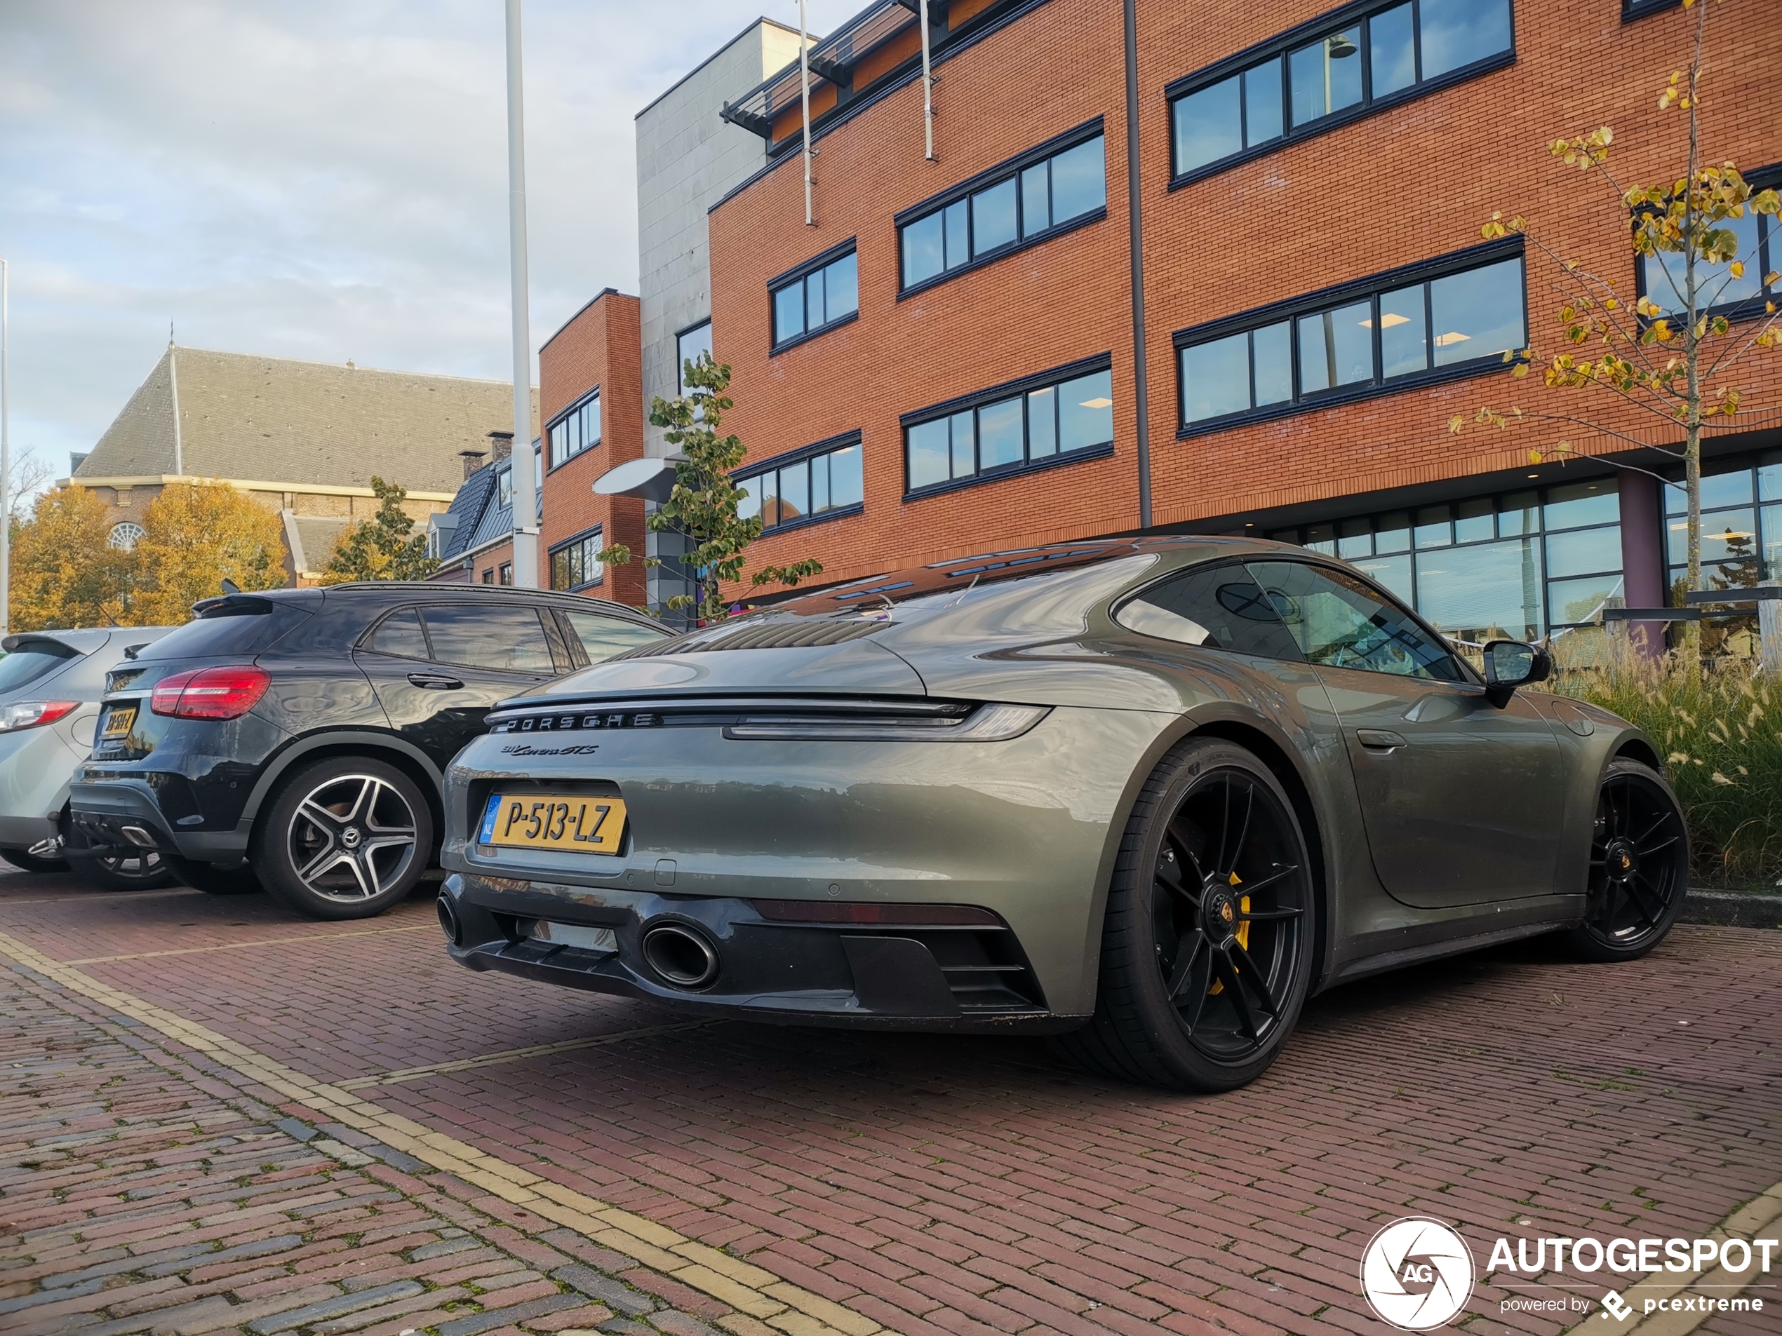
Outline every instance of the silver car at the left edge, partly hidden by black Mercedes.
{"label": "silver car at the left edge, partly hidden by black Mercedes", "polygon": [[[68,871],[68,782],[93,750],[105,672],[168,631],[23,631],[0,639],[0,859],[27,873]],[[89,860],[80,873],[118,889],[169,880],[153,850]]]}

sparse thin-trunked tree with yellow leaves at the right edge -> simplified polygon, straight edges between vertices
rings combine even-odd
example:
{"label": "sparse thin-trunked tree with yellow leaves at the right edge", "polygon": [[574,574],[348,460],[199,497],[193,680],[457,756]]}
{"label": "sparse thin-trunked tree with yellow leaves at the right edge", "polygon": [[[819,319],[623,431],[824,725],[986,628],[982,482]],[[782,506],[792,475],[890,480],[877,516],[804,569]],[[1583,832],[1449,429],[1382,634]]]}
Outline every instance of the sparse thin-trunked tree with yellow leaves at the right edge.
{"label": "sparse thin-trunked tree with yellow leaves at the right edge", "polygon": [[[1702,46],[1707,32],[1707,0],[1682,0],[1695,11],[1695,41],[1688,71],[1675,71],[1657,91],[1661,112],[1686,118],[1684,169],[1654,185],[1623,183],[1609,166],[1611,126],[1570,139],[1554,139],[1547,151],[1600,180],[1616,200],[1616,226],[1645,264],[1645,292],[1627,301],[1614,280],[1561,255],[1525,217],[1500,212],[1481,230],[1486,239],[1522,233],[1550,264],[1561,292],[1557,338],[1561,351],[1538,344],[1506,353],[1513,374],[1538,371],[1556,390],[1588,390],[1634,410],[1666,433],[1682,431],[1680,449],[1654,447],[1631,431],[1618,431],[1582,413],[1531,411],[1520,406],[1481,408],[1474,422],[1511,428],[1524,422],[1556,422],[1616,436],[1643,449],[1659,449],[1682,461],[1688,490],[1688,588],[1702,590],[1702,433],[1730,426],[1739,411],[1739,387],[1727,379],[1753,349],[1782,342],[1777,305],[1762,292],[1777,274],[1761,274],[1755,214],[1778,212],[1775,191],[1755,191],[1732,162],[1711,162],[1702,148]],[[1741,226],[1741,221],[1752,224]],[[1739,233],[1746,235],[1741,237]],[[1752,278],[1746,271],[1752,269]],[[1757,281],[1753,281],[1757,280]],[[1449,428],[1459,433],[1465,417]],[[1563,429],[1563,428],[1561,428]],[[1529,452],[1533,463],[1565,460],[1565,440]],[[1700,627],[1686,623],[1691,657],[1700,650]]]}

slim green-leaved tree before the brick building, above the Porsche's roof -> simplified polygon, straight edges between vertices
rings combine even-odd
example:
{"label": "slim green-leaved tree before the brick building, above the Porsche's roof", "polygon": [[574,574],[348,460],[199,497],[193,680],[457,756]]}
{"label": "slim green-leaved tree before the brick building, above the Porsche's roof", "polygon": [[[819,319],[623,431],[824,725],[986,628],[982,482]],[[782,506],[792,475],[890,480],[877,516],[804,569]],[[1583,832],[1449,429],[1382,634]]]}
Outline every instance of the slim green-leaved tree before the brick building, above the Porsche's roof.
{"label": "slim green-leaved tree before the brick building, above the Porsche's roof", "polygon": [[[731,388],[731,369],[713,362],[709,353],[702,353],[699,362],[684,363],[683,383],[691,387],[691,394],[650,401],[650,424],[666,428],[665,438],[670,445],[677,445],[684,458],[675,463],[668,501],[645,518],[645,525],[652,533],[684,534],[690,543],[679,561],[690,568],[699,595],[677,593],[668,600],[668,607],[675,611],[697,607],[702,620],[716,622],[725,615],[723,584],[734,584],[743,577],[747,549],[761,536],[763,520],[759,515],[745,518],[738,513],[748,497],[748,492],[731,479],[731,470],[747,454],[741,438],[718,435],[723,415],[736,406],[725,395]],[[611,543],[601,550],[601,561],[622,566],[631,561],[631,549]],[[645,558],[645,565],[659,566],[661,558]],[[756,590],[763,584],[797,586],[798,581],[822,570],[820,561],[805,558],[784,566],[761,566],[748,582]]]}

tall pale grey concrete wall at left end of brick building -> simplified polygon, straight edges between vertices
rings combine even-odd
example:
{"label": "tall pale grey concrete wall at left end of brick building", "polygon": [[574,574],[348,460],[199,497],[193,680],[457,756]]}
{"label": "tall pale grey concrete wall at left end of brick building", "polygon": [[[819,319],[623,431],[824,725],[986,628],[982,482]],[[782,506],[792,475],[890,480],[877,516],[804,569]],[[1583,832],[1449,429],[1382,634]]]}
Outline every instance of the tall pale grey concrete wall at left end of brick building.
{"label": "tall pale grey concrete wall at left end of brick building", "polygon": [[[652,397],[675,394],[675,335],[711,317],[706,210],[766,162],[761,137],[722,121],[718,110],[797,59],[797,30],[757,20],[638,112],[645,415]],[[722,331],[715,356],[725,360]],[[666,454],[661,431],[645,431],[645,452]]]}

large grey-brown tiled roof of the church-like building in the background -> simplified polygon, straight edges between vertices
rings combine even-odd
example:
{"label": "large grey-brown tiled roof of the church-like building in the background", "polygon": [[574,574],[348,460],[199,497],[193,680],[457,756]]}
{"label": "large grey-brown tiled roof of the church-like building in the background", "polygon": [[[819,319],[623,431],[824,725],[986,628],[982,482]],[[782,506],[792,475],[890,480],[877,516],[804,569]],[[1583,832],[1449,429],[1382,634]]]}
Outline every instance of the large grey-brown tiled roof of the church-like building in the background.
{"label": "large grey-brown tiled roof of the church-like building in the background", "polygon": [[503,381],[169,346],[75,479],[369,486],[378,474],[410,492],[451,493],[463,476],[458,452],[488,449],[490,431],[511,428]]}

